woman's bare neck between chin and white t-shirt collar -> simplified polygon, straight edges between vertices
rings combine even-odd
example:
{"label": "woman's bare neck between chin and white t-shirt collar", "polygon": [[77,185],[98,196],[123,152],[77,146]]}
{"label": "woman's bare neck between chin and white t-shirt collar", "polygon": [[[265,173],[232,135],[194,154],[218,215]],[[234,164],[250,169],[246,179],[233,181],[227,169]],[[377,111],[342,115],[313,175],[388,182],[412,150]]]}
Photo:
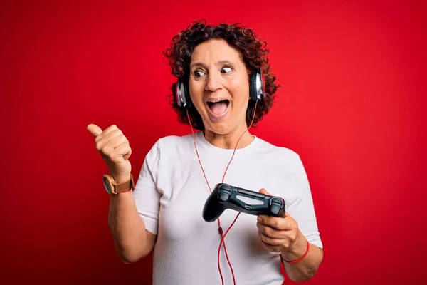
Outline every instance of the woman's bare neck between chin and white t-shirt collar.
{"label": "woman's bare neck between chin and white t-shirt collar", "polygon": [[[211,143],[211,145],[228,150],[233,150],[234,147],[236,147],[236,143],[239,138],[241,139],[238,141],[237,149],[248,146],[255,139],[253,138],[253,135],[249,133],[249,130],[247,130],[246,125],[244,125],[243,128],[236,128],[236,130],[233,130],[231,133],[224,135],[220,135],[206,129],[203,133],[206,140]],[[242,135],[243,133],[244,135]]]}

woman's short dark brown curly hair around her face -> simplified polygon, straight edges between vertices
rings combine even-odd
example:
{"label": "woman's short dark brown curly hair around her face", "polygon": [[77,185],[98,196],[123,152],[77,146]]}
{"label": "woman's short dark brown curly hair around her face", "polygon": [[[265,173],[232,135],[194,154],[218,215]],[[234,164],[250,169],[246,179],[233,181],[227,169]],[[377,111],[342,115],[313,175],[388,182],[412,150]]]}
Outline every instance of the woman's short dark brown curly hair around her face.
{"label": "woman's short dark brown curly hair around her face", "polygon": [[[182,81],[188,81],[192,51],[199,43],[213,38],[222,38],[227,41],[228,45],[240,51],[249,76],[260,68],[263,68],[265,98],[258,101],[255,118],[253,118],[255,101],[249,100],[248,110],[246,110],[246,125],[250,125],[253,118],[252,126],[255,127],[273,106],[273,101],[275,99],[274,94],[280,86],[274,83],[275,76],[273,76],[268,58],[266,58],[268,49],[265,48],[265,41],[260,41],[255,32],[250,28],[246,28],[238,23],[221,23],[218,26],[210,26],[206,25],[204,20],[192,22],[186,30],[181,31],[172,38],[171,45],[163,53],[169,60],[169,65],[172,68],[172,75],[181,78]],[[176,84],[175,82],[170,87],[172,94],[168,95],[169,103],[178,115],[179,123],[189,125],[186,110],[179,107],[176,102]],[[204,124],[196,108],[189,108],[188,111],[193,128],[203,130]]]}

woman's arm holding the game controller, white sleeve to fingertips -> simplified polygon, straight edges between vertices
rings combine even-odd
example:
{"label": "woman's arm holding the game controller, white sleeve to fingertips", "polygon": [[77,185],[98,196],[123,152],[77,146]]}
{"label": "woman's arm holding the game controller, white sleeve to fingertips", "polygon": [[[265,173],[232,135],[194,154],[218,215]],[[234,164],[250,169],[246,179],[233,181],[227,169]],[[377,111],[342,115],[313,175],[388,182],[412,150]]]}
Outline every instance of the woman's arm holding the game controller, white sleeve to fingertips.
{"label": "woman's arm holding the game controller, white sleeve to fingertips", "polygon": [[[286,261],[300,261],[290,264],[283,261],[285,272],[292,281],[305,281],[315,276],[323,259],[322,242],[317,229],[315,208],[310,185],[304,166],[297,157],[292,186],[295,199],[285,213],[284,218],[258,217],[258,229],[261,241],[273,252],[280,252]],[[265,190],[260,190],[268,194]],[[291,217],[292,215],[292,217]]]}

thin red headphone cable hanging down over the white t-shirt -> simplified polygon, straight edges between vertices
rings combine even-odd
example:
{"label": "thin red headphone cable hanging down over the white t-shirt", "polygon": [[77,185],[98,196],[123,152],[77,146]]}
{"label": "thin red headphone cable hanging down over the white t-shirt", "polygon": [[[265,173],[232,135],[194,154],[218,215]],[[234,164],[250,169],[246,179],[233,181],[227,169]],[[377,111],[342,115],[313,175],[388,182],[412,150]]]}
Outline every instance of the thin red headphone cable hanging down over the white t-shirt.
{"label": "thin red headphone cable hanging down over the white t-shirt", "polygon": [[[223,179],[222,179],[222,182],[221,182],[221,183],[223,183],[223,182],[224,182],[224,178],[226,177],[226,172],[227,172],[227,170],[228,170],[228,166],[230,166],[231,160],[233,160],[234,154],[236,153],[236,148],[237,148],[237,146],[238,146],[238,142],[241,140],[241,138],[243,137],[243,135],[244,135],[244,134],[245,134],[245,133],[246,133],[246,132],[251,128],[251,126],[252,126],[253,119],[255,118],[255,113],[256,113],[256,106],[257,106],[257,103],[258,103],[258,101],[255,101],[255,108],[253,108],[253,117],[252,117],[252,120],[251,120],[251,125],[249,125],[249,127],[248,127],[248,128],[247,128],[247,129],[246,129],[246,130],[241,134],[240,138],[238,138],[237,143],[236,143],[236,146],[234,147],[233,155],[231,156],[231,159],[230,159],[230,161],[228,162],[228,165],[227,165],[227,167],[226,167],[226,171],[224,172]],[[198,158],[198,160],[199,160],[199,165],[200,165],[200,167],[201,167],[201,172],[203,172],[204,178],[205,178],[205,180],[206,180],[206,184],[208,185],[208,188],[209,188],[209,192],[212,192],[212,190],[211,190],[211,186],[209,186],[208,179],[206,178],[206,174],[205,174],[205,172],[204,172],[204,168],[203,168],[203,166],[201,165],[201,160],[200,160],[200,157],[199,157],[199,152],[197,151],[197,146],[196,146],[196,136],[194,135],[193,126],[191,125],[191,120],[190,120],[189,110],[188,110],[188,109],[186,109],[186,114],[187,114],[187,118],[188,118],[188,120],[189,120],[189,125],[190,125],[190,127],[191,127],[191,133],[193,133],[194,148],[196,149],[196,155],[197,155],[197,158]],[[223,229],[222,229],[222,227],[221,227],[221,222],[219,221],[219,218],[218,218],[218,231],[219,231],[219,234],[221,234],[221,242],[219,242],[219,247],[218,247],[218,271],[219,271],[219,275],[221,276],[222,285],[224,284],[224,279],[223,279],[223,275],[222,275],[222,272],[221,272],[221,265],[220,265],[220,262],[219,262],[219,255],[220,255],[220,252],[221,252],[221,245],[223,245],[223,247],[224,247],[224,252],[225,252],[225,254],[226,254],[226,259],[227,259],[227,262],[228,262],[228,266],[230,266],[230,269],[231,269],[231,275],[233,276],[233,284],[234,284],[234,285],[236,285],[236,279],[235,279],[235,277],[234,277],[233,266],[231,266],[230,259],[228,259],[227,248],[226,248],[226,241],[224,240],[224,238],[225,238],[225,237],[226,237],[226,235],[228,234],[228,231],[230,231],[231,227],[233,227],[233,224],[236,222],[236,220],[237,220],[237,218],[238,218],[238,216],[239,216],[240,214],[241,214],[241,212],[238,212],[238,214],[237,214],[236,218],[235,218],[235,219],[234,219],[234,221],[231,223],[230,227],[228,227],[228,229],[226,230],[226,233],[225,233],[225,234],[223,234]]]}

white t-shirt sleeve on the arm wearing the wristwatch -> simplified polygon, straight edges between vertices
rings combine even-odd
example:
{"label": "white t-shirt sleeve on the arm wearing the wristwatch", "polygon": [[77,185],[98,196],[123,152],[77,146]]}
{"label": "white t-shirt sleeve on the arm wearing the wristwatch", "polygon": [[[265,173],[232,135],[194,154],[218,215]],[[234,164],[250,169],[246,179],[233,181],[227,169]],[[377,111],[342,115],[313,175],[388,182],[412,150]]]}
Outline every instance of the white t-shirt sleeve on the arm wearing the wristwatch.
{"label": "white t-shirt sleeve on the arm wearing the wristwatch", "polygon": [[157,190],[159,170],[159,141],[147,153],[133,192],[135,205],[144,220],[145,229],[157,234],[162,194]]}

